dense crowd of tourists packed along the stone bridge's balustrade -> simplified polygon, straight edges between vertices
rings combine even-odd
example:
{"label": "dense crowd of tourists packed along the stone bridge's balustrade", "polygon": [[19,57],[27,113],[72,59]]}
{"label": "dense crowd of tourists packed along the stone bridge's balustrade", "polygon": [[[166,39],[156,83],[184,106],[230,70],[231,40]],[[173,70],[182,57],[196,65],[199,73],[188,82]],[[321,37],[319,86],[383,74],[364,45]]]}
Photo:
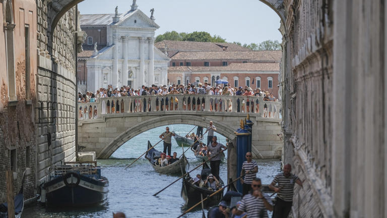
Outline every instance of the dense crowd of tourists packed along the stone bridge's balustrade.
{"label": "dense crowd of tourists packed along the stone bridge's balustrade", "polygon": [[[216,85],[211,86],[209,83],[199,83],[197,86],[195,84],[190,84],[184,86],[182,84],[179,85],[152,85],[150,87],[142,86],[141,89],[134,89],[131,86],[122,86],[120,88],[113,88],[112,85],[108,85],[107,88],[99,88],[95,93],[91,91],[86,91],[86,93],[78,93],[78,102],[95,102],[99,98],[108,98],[108,97],[125,97],[125,96],[148,96],[148,95],[159,95],[159,96],[168,96],[171,94],[184,94],[190,95],[187,97],[183,97],[183,110],[192,110],[192,111],[204,111],[206,107],[205,97],[198,96],[192,97],[192,94],[201,94],[201,95],[215,95],[215,96],[232,96],[232,95],[243,95],[243,96],[263,96],[264,101],[278,101],[276,97],[274,97],[273,93],[269,93],[269,91],[261,90],[260,88],[252,89],[248,86],[244,88],[240,87],[231,87],[230,84],[224,85]],[[149,99],[150,100],[150,99]],[[146,112],[151,110],[151,105],[143,99],[135,99],[133,104],[131,105],[131,112]],[[222,99],[211,98],[209,111],[232,111],[232,99],[228,98],[222,102]],[[242,100],[242,102],[238,102],[237,112],[251,112],[251,113],[259,113],[259,99],[246,99]],[[110,106],[111,104],[111,106]],[[255,107],[254,107],[255,104]],[[119,102],[116,101],[115,104],[109,102],[107,105],[108,113],[123,113],[123,108],[120,110]],[[161,97],[160,99],[156,99],[156,111],[173,111],[177,110],[178,99],[176,97]],[[271,104],[269,105],[269,117],[271,116]],[[121,106],[122,107],[122,106]],[[80,112],[84,108],[80,108]],[[273,108],[274,113],[277,111],[277,108]],[[94,110],[94,111],[93,111]],[[89,118],[95,117],[94,112],[96,113],[97,108],[90,110],[87,108],[86,112],[89,113]],[[264,105],[265,116],[267,111],[267,105]],[[80,116],[82,116],[80,114]]]}

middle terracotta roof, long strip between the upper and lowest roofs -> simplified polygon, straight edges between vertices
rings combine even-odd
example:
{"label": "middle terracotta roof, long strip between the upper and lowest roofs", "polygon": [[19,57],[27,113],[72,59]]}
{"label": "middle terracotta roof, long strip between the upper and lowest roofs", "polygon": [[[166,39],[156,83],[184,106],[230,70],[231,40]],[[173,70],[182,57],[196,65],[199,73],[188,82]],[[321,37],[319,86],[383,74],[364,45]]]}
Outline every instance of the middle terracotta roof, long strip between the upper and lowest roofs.
{"label": "middle terracotta roof, long strip between the upper and lowest roofs", "polygon": [[172,60],[246,60],[280,62],[281,50],[264,51],[179,51]]}

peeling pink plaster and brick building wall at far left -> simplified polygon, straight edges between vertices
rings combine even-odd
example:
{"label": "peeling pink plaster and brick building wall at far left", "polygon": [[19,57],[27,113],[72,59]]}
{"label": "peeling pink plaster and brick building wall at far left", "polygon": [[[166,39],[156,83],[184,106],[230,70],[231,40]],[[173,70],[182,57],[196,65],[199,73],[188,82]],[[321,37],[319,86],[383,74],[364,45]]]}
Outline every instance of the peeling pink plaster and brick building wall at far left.
{"label": "peeling pink plaster and brick building wall at far left", "polygon": [[[3,6],[7,10],[3,10]],[[17,11],[17,16],[12,14],[14,11]],[[0,5],[2,24],[6,22],[4,17],[10,25],[7,29],[1,28],[0,34],[0,202],[7,201],[6,171],[9,169],[16,176],[13,184],[16,194],[22,187],[23,172],[31,168],[31,174],[26,176],[23,193],[25,199],[36,194],[36,6],[30,1],[7,1]],[[5,38],[7,34],[8,39]],[[30,55],[26,59],[28,53]],[[10,91],[12,88],[15,91],[14,98]]]}

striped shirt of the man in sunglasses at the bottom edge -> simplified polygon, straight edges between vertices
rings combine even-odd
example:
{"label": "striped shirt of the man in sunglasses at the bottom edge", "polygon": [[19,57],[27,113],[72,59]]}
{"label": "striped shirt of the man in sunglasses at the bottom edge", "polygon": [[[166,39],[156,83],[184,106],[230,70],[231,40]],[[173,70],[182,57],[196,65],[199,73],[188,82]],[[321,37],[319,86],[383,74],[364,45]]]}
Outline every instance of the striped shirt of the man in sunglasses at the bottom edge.
{"label": "striped shirt of the man in sunglasses at the bottom edge", "polygon": [[[263,194],[264,198],[273,205],[269,195]],[[248,218],[264,217],[268,218],[268,210],[265,207],[264,200],[259,197],[254,197],[251,194],[246,194],[240,201],[238,210],[246,211]]]}

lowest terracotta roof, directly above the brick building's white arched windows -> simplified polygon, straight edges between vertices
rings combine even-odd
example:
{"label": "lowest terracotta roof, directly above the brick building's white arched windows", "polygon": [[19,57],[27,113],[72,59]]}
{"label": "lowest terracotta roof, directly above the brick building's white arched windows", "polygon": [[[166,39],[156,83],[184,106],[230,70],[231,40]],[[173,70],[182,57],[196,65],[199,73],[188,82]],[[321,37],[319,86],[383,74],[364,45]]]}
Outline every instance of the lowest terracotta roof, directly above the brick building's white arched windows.
{"label": "lowest terracotta roof, directly above the brick building's white arched windows", "polygon": [[280,71],[279,63],[231,63],[225,67],[168,67],[171,71]]}

